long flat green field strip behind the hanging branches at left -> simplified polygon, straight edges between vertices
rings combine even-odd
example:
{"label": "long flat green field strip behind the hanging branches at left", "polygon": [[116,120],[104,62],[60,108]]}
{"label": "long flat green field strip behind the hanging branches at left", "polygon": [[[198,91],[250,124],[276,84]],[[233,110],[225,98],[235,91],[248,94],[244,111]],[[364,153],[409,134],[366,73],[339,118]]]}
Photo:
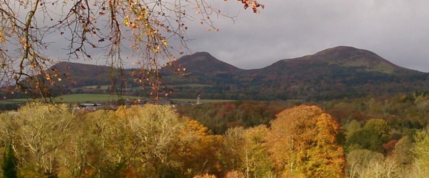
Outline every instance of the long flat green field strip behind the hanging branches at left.
{"label": "long flat green field strip behind the hanging branches at left", "polygon": [[[112,101],[118,99],[138,99],[139,97],[131,96],[122,96],[118,98],[116,95],[97,95],[97,94],[71,94],[71,95],[62,95],[54,98],[55,101],[63,101],[66,103],[77,103],[77,102],[103,102],[103,101]],[[62,100],[61,100],[62,99]],[[6,100],[8,102],[26,102],[34,101],[33,99],[12,99]],[[36,99],[36,101],[38,101]]]}

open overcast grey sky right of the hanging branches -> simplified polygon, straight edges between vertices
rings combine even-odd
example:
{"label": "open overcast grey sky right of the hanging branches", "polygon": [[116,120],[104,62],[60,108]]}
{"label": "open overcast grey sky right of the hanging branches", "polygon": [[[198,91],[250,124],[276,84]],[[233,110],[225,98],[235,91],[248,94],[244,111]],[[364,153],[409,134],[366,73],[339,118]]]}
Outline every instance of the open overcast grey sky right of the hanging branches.
{"label": "open overcast grey sky right of the hanging branches", "polygon": [[243,69],[268,66],[284,58],[313,54],[335,46],[373,51],[390,62],[429,72],[429,1],[427,0],[261,0],[253,14],[235,2],[210,1],[222,12],[219,32],[190,26],[193,52],[207,51]]}

